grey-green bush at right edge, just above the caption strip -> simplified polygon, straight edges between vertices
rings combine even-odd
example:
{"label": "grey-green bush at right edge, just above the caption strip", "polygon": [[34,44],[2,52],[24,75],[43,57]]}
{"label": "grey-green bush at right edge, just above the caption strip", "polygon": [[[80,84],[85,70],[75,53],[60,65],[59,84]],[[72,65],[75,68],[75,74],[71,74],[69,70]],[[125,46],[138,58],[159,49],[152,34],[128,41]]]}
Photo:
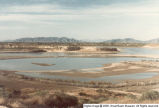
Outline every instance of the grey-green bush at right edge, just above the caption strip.
{"label": "grey-green bush at right edge, just above the caption strip", "polygon": [[159,92],[148,91],[142,94],[141,100],[157,100],[159,99]]}

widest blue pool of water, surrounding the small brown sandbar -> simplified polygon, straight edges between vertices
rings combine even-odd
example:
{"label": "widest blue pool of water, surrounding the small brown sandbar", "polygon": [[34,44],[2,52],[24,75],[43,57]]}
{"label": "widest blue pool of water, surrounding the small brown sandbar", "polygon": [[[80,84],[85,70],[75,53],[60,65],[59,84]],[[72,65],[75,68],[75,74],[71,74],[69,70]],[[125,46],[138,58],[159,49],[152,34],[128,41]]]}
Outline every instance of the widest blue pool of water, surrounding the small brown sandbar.
{"label": "widest blue pool of water, surrounding the small brown sandbar", "polygon": [[[112,57],[112,58],[31,58],[0,60],[0,69],[16,71],[40,71],[40,70],[78,70],[103,67],[104,64],[122,61],[153,60],[150,58]],[[39,66],[33,63],[55,64],[52,66]]]}

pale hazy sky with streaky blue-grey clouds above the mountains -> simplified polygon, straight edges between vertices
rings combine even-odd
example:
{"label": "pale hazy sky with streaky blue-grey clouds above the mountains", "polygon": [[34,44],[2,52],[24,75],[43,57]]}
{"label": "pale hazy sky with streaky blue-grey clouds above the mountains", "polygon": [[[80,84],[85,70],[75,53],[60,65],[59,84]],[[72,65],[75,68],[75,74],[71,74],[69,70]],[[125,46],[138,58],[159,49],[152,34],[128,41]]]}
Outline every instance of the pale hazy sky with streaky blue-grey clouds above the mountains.
{"label": "pale hazy sky with streaky blue-grey clouds above the mountains", "polygon": [[0,40],[159,38],[159,0],[0,0]]}

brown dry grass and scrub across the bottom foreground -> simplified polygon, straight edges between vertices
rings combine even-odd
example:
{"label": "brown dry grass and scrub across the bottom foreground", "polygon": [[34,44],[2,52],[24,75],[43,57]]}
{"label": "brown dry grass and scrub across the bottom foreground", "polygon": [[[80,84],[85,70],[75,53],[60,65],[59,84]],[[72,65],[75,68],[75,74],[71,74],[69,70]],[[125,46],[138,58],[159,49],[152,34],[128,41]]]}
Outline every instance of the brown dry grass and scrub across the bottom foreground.
{"label": "brown dry grass and scrub across the bottom foreground", "polygon": [[[149,91],[142,96],[123,94],[105,88],[82,88],[78,91],[50,92],[46,90],[23,89],[12,90],[10,99],[0,98],[0,104],[13,108],[62,108],[79,107],[86,103],[104,104],[134,104],[134,103],[159,103],[159,93]],[[69,94],[69,95],[68,95]],[[23,98],[25,97],[25,98]],[[7,103],[7,104],[6,104]]]}

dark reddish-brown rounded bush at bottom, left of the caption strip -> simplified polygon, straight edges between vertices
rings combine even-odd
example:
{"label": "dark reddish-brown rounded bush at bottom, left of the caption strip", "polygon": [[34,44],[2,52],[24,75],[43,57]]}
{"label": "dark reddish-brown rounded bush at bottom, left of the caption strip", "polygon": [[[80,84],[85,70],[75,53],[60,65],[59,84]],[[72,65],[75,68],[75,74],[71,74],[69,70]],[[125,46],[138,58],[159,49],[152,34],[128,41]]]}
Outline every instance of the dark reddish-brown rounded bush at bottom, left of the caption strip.
{"label": "dark reddish-brown rounded bush at bottom, left of the caption strip", "polygon": [[70,96],[63,93],[57,93],[50,95],[44,100],[44,103],[48,107],[67,108],[75,107],[78,105],[78,99],[74,96]]}

